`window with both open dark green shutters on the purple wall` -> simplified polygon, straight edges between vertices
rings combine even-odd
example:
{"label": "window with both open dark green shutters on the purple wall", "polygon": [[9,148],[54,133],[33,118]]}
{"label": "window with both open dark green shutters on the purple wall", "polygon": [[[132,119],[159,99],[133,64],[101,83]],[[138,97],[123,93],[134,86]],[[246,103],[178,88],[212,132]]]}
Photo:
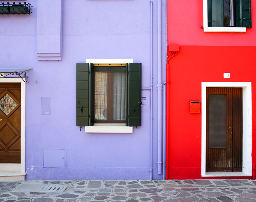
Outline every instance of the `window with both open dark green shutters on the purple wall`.
{"label": "window with both open dark green shutters on the purple wall", "polygon": [[141,104],[141,63],[76,64],[77,126],[141,126]]}

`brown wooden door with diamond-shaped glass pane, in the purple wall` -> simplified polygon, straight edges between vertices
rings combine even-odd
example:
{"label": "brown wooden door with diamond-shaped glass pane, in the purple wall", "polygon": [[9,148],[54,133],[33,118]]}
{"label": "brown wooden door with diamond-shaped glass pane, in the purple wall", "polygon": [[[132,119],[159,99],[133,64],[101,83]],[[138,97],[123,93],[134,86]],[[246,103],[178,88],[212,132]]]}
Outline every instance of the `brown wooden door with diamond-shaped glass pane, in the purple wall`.
{"label": "brown wooden door with diamond-shaped glass pane, in the purple wall", "polygon": [[0,163],[21,163],[21,84],[0,84]]}

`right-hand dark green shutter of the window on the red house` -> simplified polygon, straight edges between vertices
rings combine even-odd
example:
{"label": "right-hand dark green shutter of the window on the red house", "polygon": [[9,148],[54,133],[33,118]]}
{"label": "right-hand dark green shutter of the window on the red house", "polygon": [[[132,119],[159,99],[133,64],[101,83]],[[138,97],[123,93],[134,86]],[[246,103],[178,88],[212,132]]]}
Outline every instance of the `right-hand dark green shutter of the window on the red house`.
{"label": "right-hand dark green shutter of the window on the red house", "polygon": [[241,0],[242,2],[242,27],[252,27],[251,0]]}

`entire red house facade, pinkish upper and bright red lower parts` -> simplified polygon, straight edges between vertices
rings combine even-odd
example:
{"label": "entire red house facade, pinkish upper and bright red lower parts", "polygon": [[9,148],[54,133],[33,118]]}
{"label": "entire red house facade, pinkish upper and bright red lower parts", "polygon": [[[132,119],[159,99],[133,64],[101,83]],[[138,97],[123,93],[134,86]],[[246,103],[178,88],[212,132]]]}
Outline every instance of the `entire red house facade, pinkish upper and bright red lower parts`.
{"label": "entire red house facade, pinkish upper and bright red lower parts", "polygon": [[[252,83],[252,163],[256,164],[256,4],[252,4],[252,28],[245,33],[203,32],[202,0],[167,0],[167,25],[168,44],[179,44],[179,52],[167,61],[166,178],[208,178],[201,176],[202,113],[190,113],[190,101],[202,100],[202,82]],[[223,78],[224,72],[230,78]]]}

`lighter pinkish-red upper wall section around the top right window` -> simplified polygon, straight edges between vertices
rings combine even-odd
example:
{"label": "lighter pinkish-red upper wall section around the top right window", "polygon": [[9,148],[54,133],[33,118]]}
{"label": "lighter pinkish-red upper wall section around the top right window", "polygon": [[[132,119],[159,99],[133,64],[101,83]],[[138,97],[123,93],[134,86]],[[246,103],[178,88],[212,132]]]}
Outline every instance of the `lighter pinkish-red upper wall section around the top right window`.
{"label": "lighter pinkish-red upper wall section around the top right window", "polygon": [[245,33],[203,32],[203,0],[167,0],[168,44],[256,46],[256,3]]}

